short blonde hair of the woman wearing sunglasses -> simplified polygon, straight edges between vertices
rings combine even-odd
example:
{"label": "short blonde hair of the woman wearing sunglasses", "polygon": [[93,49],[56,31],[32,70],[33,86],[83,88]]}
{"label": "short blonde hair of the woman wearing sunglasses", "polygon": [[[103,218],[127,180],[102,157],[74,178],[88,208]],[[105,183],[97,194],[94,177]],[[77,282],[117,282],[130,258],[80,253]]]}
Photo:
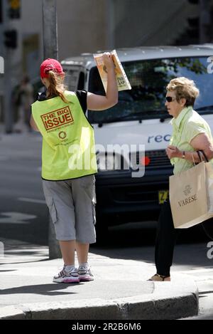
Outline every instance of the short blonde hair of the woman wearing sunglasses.
{"label": "short blonde hair of the woman wearing sunglasses", "polygon": [[175,91],[176,99],[178,102],[181,98],[185,98],[186,107],[189,107],[190,105],[192,105],[193,107],[195,99],[199,95],[199,89],[196,87],[195,82],[185,77],[170,80],[170,83],[168,83],[166,90]]}

